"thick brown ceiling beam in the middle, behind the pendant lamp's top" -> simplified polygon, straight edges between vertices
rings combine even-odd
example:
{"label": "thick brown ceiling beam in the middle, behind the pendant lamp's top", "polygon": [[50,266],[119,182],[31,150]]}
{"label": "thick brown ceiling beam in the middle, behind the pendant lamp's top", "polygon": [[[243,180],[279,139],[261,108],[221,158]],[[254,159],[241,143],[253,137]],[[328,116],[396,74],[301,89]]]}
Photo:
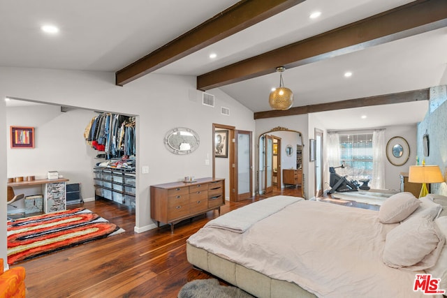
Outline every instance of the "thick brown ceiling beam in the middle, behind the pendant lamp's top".
{"label": "thick brown ceiling beam in the middle, behind the pendant lamp's top", "polygon": [[197,77],[206,91],[447,27],[446,0],[418,0]]}

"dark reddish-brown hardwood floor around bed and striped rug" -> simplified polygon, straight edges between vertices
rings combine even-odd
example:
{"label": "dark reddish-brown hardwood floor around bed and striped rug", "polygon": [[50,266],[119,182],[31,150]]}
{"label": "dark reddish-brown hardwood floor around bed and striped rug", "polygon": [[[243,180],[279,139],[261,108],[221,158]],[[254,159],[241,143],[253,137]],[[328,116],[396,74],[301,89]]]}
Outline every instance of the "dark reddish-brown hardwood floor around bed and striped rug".
{"label": "dark reddish-brown hardwood floor around bed and striped rug", "polygon": [[[243,202],[226,202],[221,213],[279,194],[301,196],[301,190],[286,188]],[[133,232],[135,214],[126,207],[103,200],[82,207],[126,232],[11,266],[26,269],[28,298],[177,297],[188,281],[212,277],[193,269],[186,260],[186,239],[217,217],[217,211],[178,223],[174,234],[169,225],[138,234]]]}

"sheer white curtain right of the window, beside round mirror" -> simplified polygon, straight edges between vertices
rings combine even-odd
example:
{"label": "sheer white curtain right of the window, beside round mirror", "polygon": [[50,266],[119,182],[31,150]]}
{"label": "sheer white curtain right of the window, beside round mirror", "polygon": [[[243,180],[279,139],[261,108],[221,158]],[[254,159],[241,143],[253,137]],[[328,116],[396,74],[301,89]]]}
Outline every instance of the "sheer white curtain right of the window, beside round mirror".
{"label": "sheer white curtain right of the window, beside round mirror", "polygon": [[370,187],[385,188],[385,131],[372,133],[372,181]]}

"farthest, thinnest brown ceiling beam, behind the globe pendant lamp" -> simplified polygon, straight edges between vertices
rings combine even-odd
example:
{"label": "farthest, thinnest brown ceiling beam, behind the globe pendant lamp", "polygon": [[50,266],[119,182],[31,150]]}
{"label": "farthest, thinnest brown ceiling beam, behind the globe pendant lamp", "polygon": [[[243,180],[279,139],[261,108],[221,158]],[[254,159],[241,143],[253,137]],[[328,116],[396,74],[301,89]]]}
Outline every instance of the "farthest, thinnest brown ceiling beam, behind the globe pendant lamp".
{"label": "farthest, thinnest brown ceiling beam, behind the globe pendant lamp", "polygon": [[372,105],[390,105],[393,103],[409,103],[416,100],[429,100],[430,89],[419,89],[413,91],[400,92],[395,94],[385,94],[364,98],[334,101],[332,103],[319,103],[318,105],[305,105],[301,107],[291,107],[288,110],[270,110],[255,112],[254,119],[265,119],[273,117],[292,116],[309,114],[316,112],[326,112],[332,110],[351,109],[353,107],[368,107]]}

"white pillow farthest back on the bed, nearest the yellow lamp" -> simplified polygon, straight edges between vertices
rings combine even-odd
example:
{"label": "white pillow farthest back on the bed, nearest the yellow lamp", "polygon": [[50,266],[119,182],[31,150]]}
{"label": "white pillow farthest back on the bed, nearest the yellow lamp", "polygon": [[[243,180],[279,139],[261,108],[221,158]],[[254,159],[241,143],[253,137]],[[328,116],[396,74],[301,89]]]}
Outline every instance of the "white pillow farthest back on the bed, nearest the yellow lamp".
{"label": "white pillow farthest back on the bed, nearest the yellow lamp", "polygon": [[381,223],[399,223],[418,209],[419,203],[412,193],[396,193],[381,205],[379,221]]}

